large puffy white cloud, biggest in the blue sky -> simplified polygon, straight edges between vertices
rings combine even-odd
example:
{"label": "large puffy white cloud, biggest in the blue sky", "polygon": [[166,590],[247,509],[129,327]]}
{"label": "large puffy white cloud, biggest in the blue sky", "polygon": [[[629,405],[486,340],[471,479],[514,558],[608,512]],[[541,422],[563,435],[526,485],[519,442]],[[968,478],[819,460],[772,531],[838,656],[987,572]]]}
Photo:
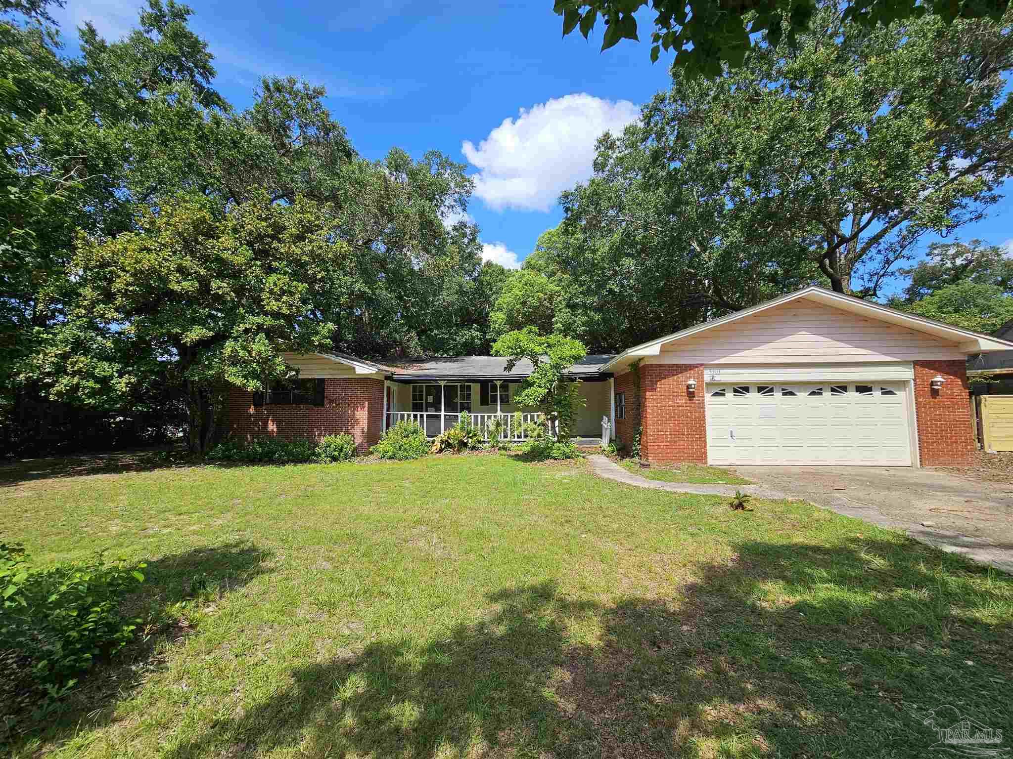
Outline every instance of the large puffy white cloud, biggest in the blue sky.
{"label": "large puffy white cloud, biggest in the blue sky", "polygon": [[622,132],[638,115],[629,100],[583,92],[521,108],[477,148],[470,140],[462,144],[479,169],[472,175],[475,194],[496,210],[547,212],[562,190],[591,177],[595,141],[605,132]]}

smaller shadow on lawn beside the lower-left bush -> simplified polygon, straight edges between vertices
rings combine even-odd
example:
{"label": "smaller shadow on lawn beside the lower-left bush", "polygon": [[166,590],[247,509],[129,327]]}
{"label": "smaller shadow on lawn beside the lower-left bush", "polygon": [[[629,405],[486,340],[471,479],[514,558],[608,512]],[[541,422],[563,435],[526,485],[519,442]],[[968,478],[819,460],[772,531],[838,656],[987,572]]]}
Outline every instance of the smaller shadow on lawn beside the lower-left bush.
{"label": "smaller shadow on lawn beside the lower-left bush", "polygon": [[199,596],[227,597],[266,572],[264,564],[270,556],[252,543],[236,541],[149,561],[145,582],[121,607],[126,618],[142,620],[135,641],[81,675],[81,684],[71,691],[52,724],[41,728],[24,724],[24,715],[18,715],[21,735],[14,740],[61,741],[82,727],[106,724],[116,703],[161,669],[171,647],[192,631],[180,604]]}

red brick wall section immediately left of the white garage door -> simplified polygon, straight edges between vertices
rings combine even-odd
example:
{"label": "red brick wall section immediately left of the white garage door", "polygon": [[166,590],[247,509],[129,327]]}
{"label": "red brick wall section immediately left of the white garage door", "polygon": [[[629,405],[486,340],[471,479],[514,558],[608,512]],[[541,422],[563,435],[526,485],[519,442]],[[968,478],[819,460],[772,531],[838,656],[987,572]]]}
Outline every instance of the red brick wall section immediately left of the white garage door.
{"label": "red brick wall section immediately left of the white garage door", "polygon": [[[696,392],[686,383],[696,380]],[[640,457],[654,462],[707,462],[702,363],[640,366],[643,434]]]}

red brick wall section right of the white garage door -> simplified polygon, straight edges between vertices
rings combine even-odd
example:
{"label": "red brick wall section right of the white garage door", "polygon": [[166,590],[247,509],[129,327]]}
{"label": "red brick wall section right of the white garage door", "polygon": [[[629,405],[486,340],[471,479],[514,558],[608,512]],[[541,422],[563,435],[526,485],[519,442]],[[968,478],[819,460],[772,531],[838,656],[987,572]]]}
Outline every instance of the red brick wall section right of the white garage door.
{"label": "red brick wall section right of the white garage door", "polygon": [[[915,361],[915,416],[923,467],[961,467],[973,456],[966,368],[959,360]],[[930,382],[936,374],[945,382],[932,390]]]}

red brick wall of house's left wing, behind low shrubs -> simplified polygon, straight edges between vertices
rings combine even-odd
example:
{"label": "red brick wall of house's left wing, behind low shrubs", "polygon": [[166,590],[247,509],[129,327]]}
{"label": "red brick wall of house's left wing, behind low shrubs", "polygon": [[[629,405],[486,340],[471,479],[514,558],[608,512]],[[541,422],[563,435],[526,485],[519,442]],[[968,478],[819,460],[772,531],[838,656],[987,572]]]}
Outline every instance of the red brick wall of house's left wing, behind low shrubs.
{"label": "red brick wall of house's left wing, behind low shrubs", "polygon": [[225,434],[310,437],[350,434],[365,453],[383,430],[383,380],[324,381],[323,406],[254,406],[253,394],[239,388],[229,393]]}

